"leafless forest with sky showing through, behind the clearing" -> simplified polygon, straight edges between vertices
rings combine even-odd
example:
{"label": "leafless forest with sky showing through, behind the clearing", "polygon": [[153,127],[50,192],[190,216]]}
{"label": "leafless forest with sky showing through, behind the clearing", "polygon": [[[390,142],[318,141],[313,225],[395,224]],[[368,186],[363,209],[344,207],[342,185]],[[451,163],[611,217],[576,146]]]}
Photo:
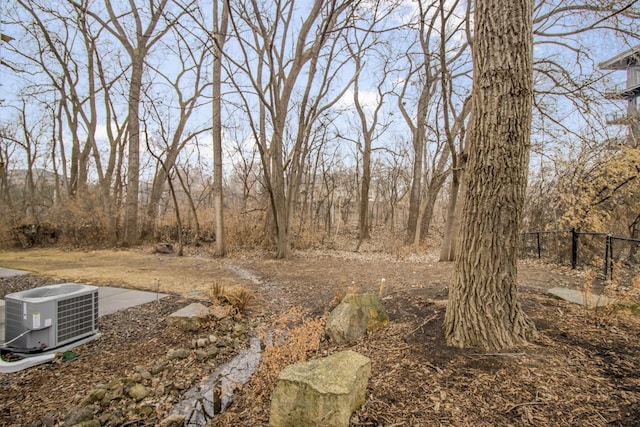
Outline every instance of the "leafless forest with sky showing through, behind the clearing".
{"label": "leafless forest with sky showing through, behind the clearing", "polygon": [[[3,246],[285,258],[347,236],[356,250],[442,243],[453,259],[470,2],[15,0],[1,13]],[[637,143],[607,96],[624,73],[598,66],[637,44],[637,5],[545,0],[532,17],[521,231],[637,238]]]}

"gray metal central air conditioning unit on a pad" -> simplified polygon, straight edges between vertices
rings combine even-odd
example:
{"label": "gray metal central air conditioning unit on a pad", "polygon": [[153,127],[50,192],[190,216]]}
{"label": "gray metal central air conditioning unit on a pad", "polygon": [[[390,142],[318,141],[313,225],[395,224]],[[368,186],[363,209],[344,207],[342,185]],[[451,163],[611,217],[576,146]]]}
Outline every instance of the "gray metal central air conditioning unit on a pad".
{"label": "gray metal central air conditioning unit on a pad", "polygon": [[5,296],[5,342],[19,352],[50,350],[98,333],[98,288],[43,286]]}

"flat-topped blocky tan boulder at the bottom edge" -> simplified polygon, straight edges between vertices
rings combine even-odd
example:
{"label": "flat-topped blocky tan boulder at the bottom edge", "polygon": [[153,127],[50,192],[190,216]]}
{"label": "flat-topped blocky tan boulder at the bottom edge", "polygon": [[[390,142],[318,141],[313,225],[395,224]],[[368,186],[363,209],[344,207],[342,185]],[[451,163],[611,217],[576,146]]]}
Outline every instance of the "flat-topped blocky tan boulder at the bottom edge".
{"label": "flat-topped blocky tan boulder at the bottom edge", "polygon": [[290,365],[278,375],[270,427],[346,427],[365,401],[371,361],[354,351]]}

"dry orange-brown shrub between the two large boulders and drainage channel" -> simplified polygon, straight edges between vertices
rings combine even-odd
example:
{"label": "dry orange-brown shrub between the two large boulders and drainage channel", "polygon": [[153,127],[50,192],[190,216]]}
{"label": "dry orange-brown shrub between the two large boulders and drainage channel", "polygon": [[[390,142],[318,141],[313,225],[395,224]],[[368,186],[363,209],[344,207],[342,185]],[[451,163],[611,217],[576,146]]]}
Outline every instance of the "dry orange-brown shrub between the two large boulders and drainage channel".
{"label": "dry orange-brown shrub between the two large boulders and drainage channel", "polygon": [[252,401],[268,402],[280,371],[294,363],[304,362],[317,352],[324,337],[326,316],[311,318],[298,307],[281,314],[273,323],[265,341],[271,338],[262,352],[260,366],[249,382]]}

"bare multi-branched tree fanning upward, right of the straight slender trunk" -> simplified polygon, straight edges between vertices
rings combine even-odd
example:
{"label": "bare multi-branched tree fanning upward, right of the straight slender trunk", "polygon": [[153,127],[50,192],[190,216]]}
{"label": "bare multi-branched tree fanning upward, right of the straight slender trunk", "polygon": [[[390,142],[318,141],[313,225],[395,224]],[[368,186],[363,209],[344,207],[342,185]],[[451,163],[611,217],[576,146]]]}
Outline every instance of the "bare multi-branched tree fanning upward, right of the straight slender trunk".
{"label": "bare multi-branched tree fanning upward, right of the straight slender trunk", "polygon": [[[263,5],[258,3],[253,1],[245,5],[242,5],[241,2],[233,3],[237,6],[233,7],[229,18],[234,33],[238,35],[240,41],[238,47],[243,56],[243,59],[236,62],[236,65],[240,67],[243,74],[249,77],[260,101],[258,123],[253,118],[250,119],[250,123],[260,152],[265,186],[271,202],[270,213],[276,231],[276,257],[286,258],[291,250],[290,207],[295,204],[295,199],[292,200],[287,196],[295,193],[297,185],[295,171],[293,174],[287,175],[292,172],[291,169],[295,168],[296,159],[303,158],[298,151],[302,149],[303,139],[296,138],[291,150],[287,146],[289,131],[287,124],[292,107],[291,100],[296,95],[295,89],[300,83],[301,76],[305,72],[309,73],[307,77],[313,75],[314,61],[320,57],[321,50],[329,40],[337,37],[338,31],[344,25],[342,21],[338,22],[338,20],[353,2],[352,0],[314,0],[308,15],[304,17],[299,28],[296,28],[295,31],[291,31],[293,13],[297,10],[295,2],[278,1],[276,6],[269,10],[262,10]],[[273,10],[276,10],[277,14],[270,17],[269,13]],[[261,46],[250,46],[248,42],[250,38],[240,35],[241,29],[238,27],[240,21],[236,17],[248,24],[253,32],[255,42],[262,43]],[[274,43],[275,39],[280,40],[278,43]],[[288,40],[291,40],[290,53],[285,52],[286,49],[289,49]],[[285,46],[287,46],[286,49]],[[249,55],[248,49],[253,51],[251,55]],[[253,55],[257,55],[257,58],[250,58]],[[287,57],[286,60],[283,59],[285,57]],[[279,59],[273,61],[274,58]],[[269,69],[265,70],[263,67],[267,66]],[[269,72],[269,78],[267,82],[263,83],[264,71]],[[236,83],[237,81],[234,81],[234,85]],[[244,91],[239,86],[237,89],[239,92]],[[251,111],[254,108],[246,102],[246,98],[243,102],[251,117]],[[271,135],[268,137],[263,126],[266,123],[264,119],[267,112],[271,125]],[[318,115],[317,113],[311,114],[311,117],[315,121]],[[260,126],[259,132],[256,124]],[[303,124],[298,123],[298,126],[303,126]],[[308,135],[308,132],[304,131],[301,134]],[[293,162],[293,167],[289,167],[290,161]],[[293,187],[290,188],[288,185],[293,185]]]}

